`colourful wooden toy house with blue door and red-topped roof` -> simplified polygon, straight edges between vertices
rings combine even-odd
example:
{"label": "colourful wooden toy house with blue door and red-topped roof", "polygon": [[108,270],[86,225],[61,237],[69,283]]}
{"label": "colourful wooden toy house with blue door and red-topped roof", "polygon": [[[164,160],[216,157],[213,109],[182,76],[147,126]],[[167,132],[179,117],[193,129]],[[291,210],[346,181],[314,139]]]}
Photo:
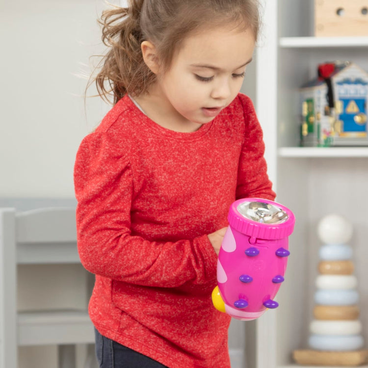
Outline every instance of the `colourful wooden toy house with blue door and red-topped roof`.
{"label": "colourful wooden toy house with blue door and red-topped roof", "polygon": [[359,66],[319,65],[300,99],[302,146],[368,146],[368,73]]}

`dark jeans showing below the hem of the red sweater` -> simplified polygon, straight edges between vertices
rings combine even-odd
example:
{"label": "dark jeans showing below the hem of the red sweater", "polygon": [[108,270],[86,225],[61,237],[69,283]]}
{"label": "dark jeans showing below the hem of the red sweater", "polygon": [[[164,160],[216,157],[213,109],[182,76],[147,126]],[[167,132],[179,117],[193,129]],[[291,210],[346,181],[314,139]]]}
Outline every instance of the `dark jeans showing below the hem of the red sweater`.
{"label": "dark jeans showing below the hem of the red sweater", "polygon": [[96,357],[100,368],[167,368],[129,347],[102,336],[95,329]]}

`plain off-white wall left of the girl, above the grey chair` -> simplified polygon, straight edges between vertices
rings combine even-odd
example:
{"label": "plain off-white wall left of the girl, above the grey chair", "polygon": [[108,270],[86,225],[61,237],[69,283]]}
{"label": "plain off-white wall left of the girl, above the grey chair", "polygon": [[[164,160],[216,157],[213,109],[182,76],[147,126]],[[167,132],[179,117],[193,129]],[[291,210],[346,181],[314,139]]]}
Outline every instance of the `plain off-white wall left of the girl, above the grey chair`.
{"label": "plain off-white wall left of the girl, above the grey chair", "polygon": [[[102,0],[1,1],[0,197],[73,197],[82,137],[105,113],[84,111],[89,56],[101,53]],[[84,71],[84,72],[83,72]]]}

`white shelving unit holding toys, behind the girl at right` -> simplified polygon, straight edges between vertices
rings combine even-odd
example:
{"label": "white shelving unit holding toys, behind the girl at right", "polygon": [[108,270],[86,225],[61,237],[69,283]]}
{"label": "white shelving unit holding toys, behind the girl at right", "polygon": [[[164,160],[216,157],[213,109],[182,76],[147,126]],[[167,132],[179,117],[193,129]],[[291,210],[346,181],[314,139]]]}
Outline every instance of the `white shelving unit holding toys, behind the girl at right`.
{"label": "white shelving unit holding toys, behind the girl at right", "polygon": [[[299,147],[298,89],[319,63],[351,60],[368,70],[368,37],[314,37],[313,0],[263,0],[264,37],[257,50],[256,109],[263,126],[276,200],[296,216],[280,307],[256,325],[257,368],[296,368],[292,351],[307,348],[314,307],[321,217],[351,220],[360,319],[368,346],[368,147]],[[307,367],[308,368],[308,367]],[[310,367],[312,368],[312,367]],[[318,367],[313,367],[318,368]],[[368,365],[363,366],[368,368]]]}

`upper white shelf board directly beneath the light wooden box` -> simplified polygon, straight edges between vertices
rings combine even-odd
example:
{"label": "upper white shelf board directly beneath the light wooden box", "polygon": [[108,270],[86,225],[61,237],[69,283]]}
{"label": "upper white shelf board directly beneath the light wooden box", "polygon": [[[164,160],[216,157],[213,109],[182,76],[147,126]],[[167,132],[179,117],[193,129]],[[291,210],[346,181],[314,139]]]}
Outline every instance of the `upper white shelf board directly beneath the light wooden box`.
{"label": "upper white shelf board directly beneath the light wooden box", "polygon": [[368,47],[368,37],[282,37],[282,48]]}

